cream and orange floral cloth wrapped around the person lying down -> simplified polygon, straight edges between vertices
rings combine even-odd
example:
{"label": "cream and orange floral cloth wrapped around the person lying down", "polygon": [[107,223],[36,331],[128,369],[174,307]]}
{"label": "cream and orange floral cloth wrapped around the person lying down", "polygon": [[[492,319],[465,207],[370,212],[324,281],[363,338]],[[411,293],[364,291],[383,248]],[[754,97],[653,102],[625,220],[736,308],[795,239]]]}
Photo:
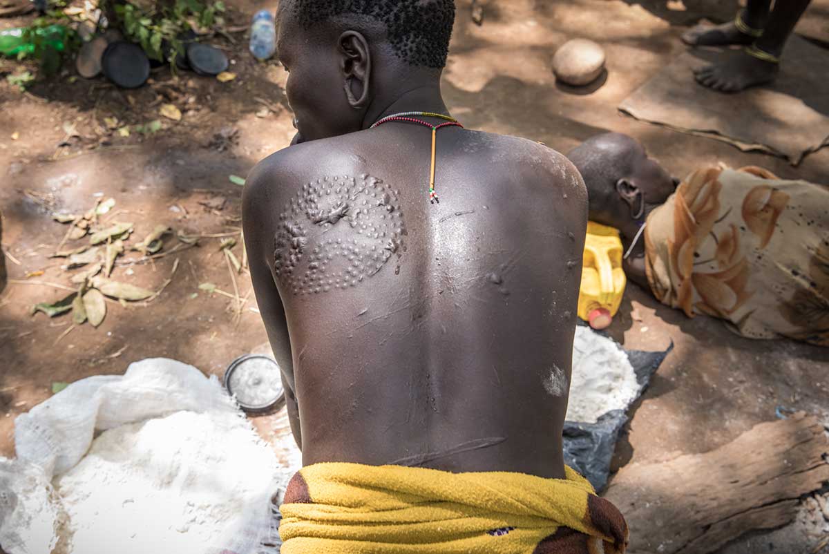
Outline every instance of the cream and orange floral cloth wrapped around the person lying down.
{"label": "cream and orange floral cloth wrapped around the person lying down", "polygon": [[647,217],[647,279],[662,304],[749,338],[829,346],[829,188],[761,168],[691,173]]}

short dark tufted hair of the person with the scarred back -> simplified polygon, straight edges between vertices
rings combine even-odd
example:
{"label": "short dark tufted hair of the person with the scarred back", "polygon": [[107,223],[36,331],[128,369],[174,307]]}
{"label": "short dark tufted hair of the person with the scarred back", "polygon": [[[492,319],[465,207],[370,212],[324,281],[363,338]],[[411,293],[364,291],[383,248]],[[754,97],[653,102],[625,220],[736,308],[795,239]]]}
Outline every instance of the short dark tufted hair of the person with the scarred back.
{"label": "short dark tufted hair of the person with the scarred back", "polygon": [[336,17],[371,17],[385,26],[401,60],[412,66],[446,66],[453,0],[293,0],[291,7],[306,29]]}

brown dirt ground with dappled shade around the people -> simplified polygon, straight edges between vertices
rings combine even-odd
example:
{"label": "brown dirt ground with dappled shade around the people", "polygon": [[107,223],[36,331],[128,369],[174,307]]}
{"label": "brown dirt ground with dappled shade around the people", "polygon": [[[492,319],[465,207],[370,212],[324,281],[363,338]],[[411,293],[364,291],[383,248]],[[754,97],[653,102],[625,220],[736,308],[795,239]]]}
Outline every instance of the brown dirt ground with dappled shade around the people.
{"label": "brown dirt ground with dappled shade around the people", "polygon": [[[227,3],[230,24],[241,25],[255,10],[274,9],[277,2]],[[618,113],[623,99],[683,51],[679,35],[688,25],[701,17],[726,20],[737,2],[481,3],[484,22],[478,27],[470,20],[469,1],[458,0],[444,79],[449,108],[467,127],[540,140],[565,153],[612,130],[641,140],[677,176],[723,162],[762,165],[781,177],[829,185],[829,148],[793,168],[779,158],[741,153]],[[3,19],[0,28],[25,21]],[[813,2],[798,31],[829,38],[829,2]],[[129,362],[145,357],[172,357],[221,376],[235,357],[266,343],[246,274],[238,278],[240,297],[247,298],[240,318],[232,308],[235,300],[199,289],[211,282],[235,294],[219,248],[221,236],[240,231],[241,188],[229,176],[245,176],[293,135],[284,70],[275,61],[254,61],[244,32],[230,36],[235,43],[223,36],[213,41],[225,49],[230,70],[238,75],[226,83],[188,72],[174,76],[167,67],[153,70],[153,82],[133,91],[117,90],[103,78],[72,79],[74,70],[38,82],[25,94],[0,83],[2,247],[10,279],[27,281],[10,284],[0,295],[0,455],[13,452],[14,417],[50,396],[54,381],[122,373]],[[599,41],[608,56],[606,78],[585,90],[556,85],[550,70],[555,49],[574,36]],[[0,61],[0,74],[17,72],[17,66]],[[181,109],[180,122],[158,114],[167,103]],[[122,137],[107,129],[105,118],[117,118],[119,125],[161,119],[163,128]],[[80,137],[67,137],[67,122]],[[170,277],[176,260],[177,271],[157,299],[109,304],[99,328],[85,324],[65,334],[69,315],[29,314],[32,304],[66,294],[42,283],[70,284],[61,269],[65,260],[48,257],[66,231],[50,212],[82,212],[98,197],[117,202],[104,218],[134,222],[133,242],[159,223],[188,235],[221,236],[202,238],[196,247],[182,244],[146,263],[134,263],[138,253],[121,258],[113,279],[148,289]],[[175,245],[176,238],[167,237],[162,253]],[[240,245],[234,251],[241,256]],[[28,272],[41,270],[43,275],[27,279]],[[610,332],[626,348],[675,345],[623,432],[616,468],[714,449],[773,420],[777,406],[817,414],[829,424],[825,349],[739,338],[714,319],[689,319],[658,304],[633,284]],[[284,418],[272,423],[260,423],[265,435],[284,432]],[[803,508],[793,524],[742,537],[722,552],[812,552],[827,532],[829,526],[813,522]]]}

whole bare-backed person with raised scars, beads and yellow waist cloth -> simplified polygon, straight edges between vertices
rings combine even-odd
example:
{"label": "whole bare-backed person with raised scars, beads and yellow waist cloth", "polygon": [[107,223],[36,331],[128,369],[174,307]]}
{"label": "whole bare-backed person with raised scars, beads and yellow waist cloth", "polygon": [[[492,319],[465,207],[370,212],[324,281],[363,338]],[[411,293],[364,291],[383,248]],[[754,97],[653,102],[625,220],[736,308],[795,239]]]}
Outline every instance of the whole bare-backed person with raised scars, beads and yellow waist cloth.
{"label": "whole bare-backed person with raised scars, beads and yellow waist cloth", "polygon": [[[580,479],[565,470],[561,445],[587,221],[579,173],[529,140],[427,128],[449,122],[440,75],[452,0],[284,0],[277,17],[298,138],[250,173],[243,219],[256,299],[306,466],[286,492],[283,552],[334,552],[342,525],[317,536],[309,529],[325,522],[300,509],[342,508],[315,492],[327,478],[328,490],[347,481],[351,493],[407,479],[418,491],[457,492],[450,481],[463,472],[511,472],[537,480],[521,488],[526,494],[564,502],[569,493],[552,484],[575,490]],[[370,129],[410,112],[444,118],[413,114],[406,117],[429,125],[392,120]],[[434,160],[439,202],[429,196]],[[375,470],[379,484],[357,483]],[[546,514],[552,527],[536,528],[514,513],[484,523],[456,513],[437,525],[429,552],[468,552],[467,541],[507,535],[525,541],[515,552],[528,552],[527,540],[571,533],[565,527],[579,528],[585,544],[609,541],[618,550],[607,552],[622,552],[618,512],[583,494],[574,513],[587,521],[585,513],[606,509],[613,525],[553,525]],[[459,514],[479,514],[464,504],[477,496],[464,494]],[[449,502],[434,490],[425,499]],[[366,500],[364,524],[337,538],[346,550],[336,552],[361,552],[359,541],[388,547],[372,552],[426,542],[407,534],[414,523],[402,514],[382,537],[355,542],[354,533],[371,534],[367,526],[378,520],[368,513],[379,502]],[[354,505],[346,509],[353,517]]]}

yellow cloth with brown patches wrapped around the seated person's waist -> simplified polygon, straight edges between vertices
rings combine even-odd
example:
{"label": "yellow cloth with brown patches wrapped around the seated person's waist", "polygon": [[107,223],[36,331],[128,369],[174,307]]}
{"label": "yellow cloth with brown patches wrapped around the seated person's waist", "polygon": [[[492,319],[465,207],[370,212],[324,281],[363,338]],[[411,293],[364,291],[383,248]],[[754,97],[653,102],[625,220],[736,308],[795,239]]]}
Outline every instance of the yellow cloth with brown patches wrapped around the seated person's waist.
{"label": "yellow cloth with brown patches wrapped around the seated person's waist", "polygon": [[587,479],[314,464],[280,508],[282,554],[622,554],[622,514]]}

